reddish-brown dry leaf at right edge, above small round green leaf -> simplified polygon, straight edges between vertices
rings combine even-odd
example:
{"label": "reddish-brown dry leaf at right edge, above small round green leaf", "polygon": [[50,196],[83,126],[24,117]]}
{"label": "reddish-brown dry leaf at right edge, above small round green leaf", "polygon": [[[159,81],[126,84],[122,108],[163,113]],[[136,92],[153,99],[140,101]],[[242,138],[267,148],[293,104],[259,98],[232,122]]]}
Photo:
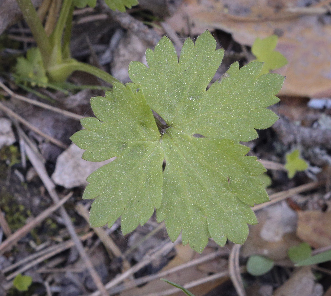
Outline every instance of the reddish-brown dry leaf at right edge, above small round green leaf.
{"label": "reddish-brown dry leaf at right edge, above small round green leaf", "polygon": [[331,212],[298,212],[297,235],[314,248],[331,245]]}

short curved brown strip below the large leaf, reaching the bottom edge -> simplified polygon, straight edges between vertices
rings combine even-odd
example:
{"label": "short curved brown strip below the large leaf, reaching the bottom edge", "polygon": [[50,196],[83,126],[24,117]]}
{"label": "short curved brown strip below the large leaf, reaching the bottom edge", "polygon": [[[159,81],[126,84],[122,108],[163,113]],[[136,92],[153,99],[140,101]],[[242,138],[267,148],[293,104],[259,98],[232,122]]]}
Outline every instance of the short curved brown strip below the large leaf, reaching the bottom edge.
{"label": "short curved brown strip below the large leaf, reaching the bottom edge", "polygon": [[246,296],[243,280],[240,275],[240,267],[239,267],[240,248],[241,245],[239,244],[235,244],[232,247],[229,256],[229,274],[238,295]]}

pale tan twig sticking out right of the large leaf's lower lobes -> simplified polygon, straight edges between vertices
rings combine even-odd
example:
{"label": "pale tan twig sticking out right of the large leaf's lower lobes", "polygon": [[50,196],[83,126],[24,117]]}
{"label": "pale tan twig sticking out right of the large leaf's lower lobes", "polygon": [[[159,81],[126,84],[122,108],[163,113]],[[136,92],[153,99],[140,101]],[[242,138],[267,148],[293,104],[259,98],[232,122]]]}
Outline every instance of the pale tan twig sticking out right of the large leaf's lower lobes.
{"label": "pale tan twig sticking out right of the large leaf's lower lobes", "polygon": [[285,200],[285,199],[287,199],[287,198],[289,198],[289,197],[291,197],[295,194],[318,188],[319,186],[322,186],[324,184],[325,184],[325,181],[311,182],[311,183],[308,183],[308,184],[304,184],[304,185],[300,185],[300,186],[291,188],[289,190],[285,190],[285,191],[281,191],[281,192],[271,194],[269,196],[270,202],[266,202],[264,204],[256,205],[256,206],[252,207],[252,210],[257,211],[257,210],[259,210],[263,207],[268,207],[268,206],[273,205],[275,203],[278,203],[282,200]]}

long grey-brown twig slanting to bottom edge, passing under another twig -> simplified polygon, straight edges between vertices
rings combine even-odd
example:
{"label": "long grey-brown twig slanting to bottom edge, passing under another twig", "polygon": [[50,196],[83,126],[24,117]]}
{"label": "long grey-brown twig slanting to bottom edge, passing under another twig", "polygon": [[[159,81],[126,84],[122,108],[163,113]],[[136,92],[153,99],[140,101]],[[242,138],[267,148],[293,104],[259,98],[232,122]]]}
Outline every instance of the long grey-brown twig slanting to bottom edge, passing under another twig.
{"label": "long grey-brown twig slanting to bottom edge, passing under another twig", "polygon": [[[46,187],[50,197],[53,199],[54,202],[57,203],[59,201],[59,196],[55,191],[55,184],[53,183],[53,181],[47,174],[44,164],[40,161],[40,159],[36,156],[35,152],[27,144],[25,145],[25,151],[26,151],[26,154],[27,154],[31,164],[37,171],[37,174],[39,175],[41,181],[44,183],[44,186]],[[99,291],[97,291],[97,292],[103,296],[108,295],[98,273],[94,269],[94,266],[92,265],[92,262],[89,259],[88,255],[83,247],[83,244],[81,243],[79,237],[77,236],[77,234],[75,232],[75,228],[72,224],[72,221],[71,221],[70,216],[68,215],[66,209],[64,207],[60,207],[60,212],[61,212],[61,216],[64,220],[64,223],[68,229],[68,232],[71,235],[71,238],[75,243],[75,246],[78,250],[79,255],[85,262],[85,265],[86,265],[95,285],[99,289]]]}

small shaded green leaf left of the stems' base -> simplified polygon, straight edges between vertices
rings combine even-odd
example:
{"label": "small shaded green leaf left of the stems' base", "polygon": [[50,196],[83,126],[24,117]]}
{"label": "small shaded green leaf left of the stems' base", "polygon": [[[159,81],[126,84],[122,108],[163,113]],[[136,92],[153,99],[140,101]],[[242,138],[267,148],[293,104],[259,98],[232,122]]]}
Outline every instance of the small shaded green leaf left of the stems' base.
{"label": "small shaded green leaf left of the stems' base", "polygon": [[41,53],[38,48],[32,47],[27,50],[26,58],[18,57],[16,63],[17,80],[31,80],[31,86],[41,86],[48,82],[46,70],[42,61]]}

